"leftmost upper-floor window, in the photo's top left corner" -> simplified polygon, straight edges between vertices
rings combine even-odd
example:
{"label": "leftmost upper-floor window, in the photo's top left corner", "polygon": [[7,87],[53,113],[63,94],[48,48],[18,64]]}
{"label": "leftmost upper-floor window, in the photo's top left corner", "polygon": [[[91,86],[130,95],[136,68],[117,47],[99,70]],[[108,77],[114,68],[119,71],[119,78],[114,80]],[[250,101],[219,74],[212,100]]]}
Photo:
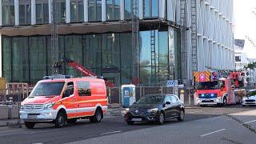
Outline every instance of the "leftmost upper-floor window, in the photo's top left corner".
{"label": "leftmost upper-floor window, in the photo's top left corner", "polygon": [[2,26],[14,26],[14,0],[2,1]]}

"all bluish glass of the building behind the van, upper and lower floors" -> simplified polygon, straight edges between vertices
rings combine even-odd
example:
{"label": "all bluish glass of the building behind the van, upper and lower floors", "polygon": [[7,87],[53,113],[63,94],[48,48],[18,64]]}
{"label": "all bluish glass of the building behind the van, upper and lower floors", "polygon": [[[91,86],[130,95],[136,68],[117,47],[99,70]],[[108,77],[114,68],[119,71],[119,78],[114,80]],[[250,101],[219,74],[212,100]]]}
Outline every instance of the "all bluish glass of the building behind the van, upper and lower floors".
{"label": "all bluish glass of the building behind the van, upper and lower floors", "polygon": [[[34,2],[33,4],[30,0],[18,1],[19,26],[43,25],[50,22],[49,1]],[[59,0],[58,2],[58,20],[61,23],[122,20],[129,22],[132,18],[130,0]],[[70,2],[69,5],[66,2]],[[144,19],[157,21],[160,18],[159,2],[158,0],[140,2],[142,22]],[[17,7],[14,0],[2,0],[3,27],[17,25],[14,7]],[[132,50],[130,30],[97,34],[60,34],[59,59],[70,58],[114,82],[116,86],[130,83],[134,77],[139,77],[141,83],[145,85],[178,79],[181,77],[179,31],[158,24],[149,22],[139,31],[138,55],[134,55]],[[14,36],[2,34],[2,77],[5,77],[7,82],[34,84],[43,76],[50,75],[52,71],[50,34],[20,35],[22,34]],[[154,54],[152,46],[154,46]],[[134,63],[135,57],[139,59],[139,64]],[[134,74],[134,69],[137,69],[135,66],[139,66],[138,74]],[[62,74],[71,74],[74,77],[82,76],[80,72],[67,65],[60,71]]]}

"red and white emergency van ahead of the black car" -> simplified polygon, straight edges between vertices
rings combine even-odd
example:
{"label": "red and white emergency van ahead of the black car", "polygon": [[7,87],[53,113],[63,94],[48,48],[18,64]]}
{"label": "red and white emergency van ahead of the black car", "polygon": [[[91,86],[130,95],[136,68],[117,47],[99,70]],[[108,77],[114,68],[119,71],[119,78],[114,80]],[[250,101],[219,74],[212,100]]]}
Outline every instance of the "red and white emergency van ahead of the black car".
{"label": "red and white emergency van ahead of the black car", "polygon": [[78,118],[101,122],[107,103],[103,79],[46,76],[22,102],[20,118],[27,128],[39,122],[54,122],[56,127],[62,127]]}

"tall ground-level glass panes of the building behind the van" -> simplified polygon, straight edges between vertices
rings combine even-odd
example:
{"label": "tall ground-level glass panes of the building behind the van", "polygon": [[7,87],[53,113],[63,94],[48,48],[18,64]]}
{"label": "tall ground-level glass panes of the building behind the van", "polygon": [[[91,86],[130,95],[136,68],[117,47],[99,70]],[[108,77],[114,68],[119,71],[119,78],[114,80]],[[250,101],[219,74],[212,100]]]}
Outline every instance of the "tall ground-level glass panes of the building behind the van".
{"label": "tall ground-level glass panes of the building behind the van", "polygon": [[[139,77],[143,84],[166,81],[170,74],[168,31],[154,30],[155,67],[151,63],[151,31],[140,32]],[[51,74],[50,49],[50,36],[2,36],[2,76],[8,82],[38,82],[43,76]],[[116,84],[129,83],[134,77],[132,71],[135,56],[131,49],[130,33],[59,36],[59,59],[70,58],[94,73],[110,78]],[[82,76],[70,66],[64,66],[61,73]]]}

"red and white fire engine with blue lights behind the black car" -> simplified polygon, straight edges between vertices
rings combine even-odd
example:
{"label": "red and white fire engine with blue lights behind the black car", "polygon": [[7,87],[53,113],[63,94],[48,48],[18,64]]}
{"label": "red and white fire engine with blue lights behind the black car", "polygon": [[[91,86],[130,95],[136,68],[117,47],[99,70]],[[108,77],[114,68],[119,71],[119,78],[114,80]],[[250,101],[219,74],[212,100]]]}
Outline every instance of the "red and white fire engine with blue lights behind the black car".
{"label": "red and white fire engine with blue lights behind the black car", "polygon": [[239,101],[234,94],[230,78],[213,78],[211,73],[201,73],[201,77],[195,82],[195,102],[199,106],[219,105],[226,106]]}

